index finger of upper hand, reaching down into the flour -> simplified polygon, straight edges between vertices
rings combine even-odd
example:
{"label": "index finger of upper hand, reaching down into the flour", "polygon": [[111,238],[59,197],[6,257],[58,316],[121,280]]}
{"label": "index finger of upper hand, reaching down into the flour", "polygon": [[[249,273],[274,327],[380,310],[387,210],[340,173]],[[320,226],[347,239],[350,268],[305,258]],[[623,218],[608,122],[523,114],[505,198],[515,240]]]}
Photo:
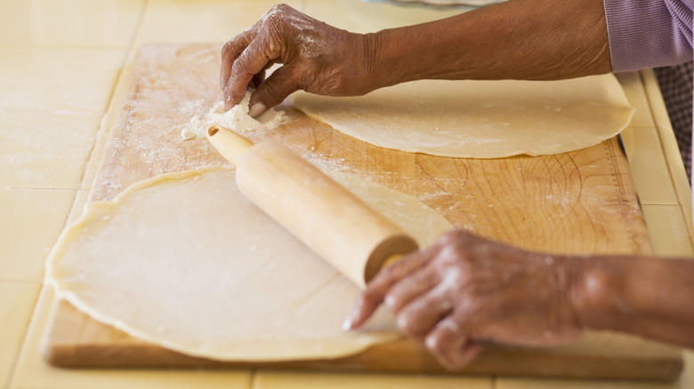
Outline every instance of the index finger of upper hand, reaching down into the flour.
{"label": "index finger of upper hand, reaching down into the flour", "polygon": [[246,93],[248,83],[254,75],[262,72],[271,60],[279,56],[279,45],[265,44],[266,41],[267,39],[263,39],[262,36],[256,36],[231,66],[229,82],[224,90],[226,109],[237,105]]}

